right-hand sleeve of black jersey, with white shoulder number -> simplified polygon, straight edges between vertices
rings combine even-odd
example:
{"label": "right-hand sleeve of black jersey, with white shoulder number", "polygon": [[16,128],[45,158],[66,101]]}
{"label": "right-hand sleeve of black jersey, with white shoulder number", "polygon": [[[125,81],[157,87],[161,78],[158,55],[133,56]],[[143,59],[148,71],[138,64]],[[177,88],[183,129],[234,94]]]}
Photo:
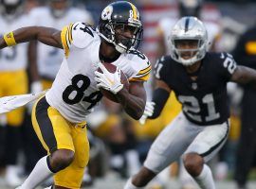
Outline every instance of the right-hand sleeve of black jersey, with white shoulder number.
{"label": "right-hand sleeve of black jersey, with white shoulder number", "polygon": [[229,53],[221,53],[219,60],[220,64],[218,69],[221,73],[221,76],[229,81],[230,77],[237,68],[237,64]]}

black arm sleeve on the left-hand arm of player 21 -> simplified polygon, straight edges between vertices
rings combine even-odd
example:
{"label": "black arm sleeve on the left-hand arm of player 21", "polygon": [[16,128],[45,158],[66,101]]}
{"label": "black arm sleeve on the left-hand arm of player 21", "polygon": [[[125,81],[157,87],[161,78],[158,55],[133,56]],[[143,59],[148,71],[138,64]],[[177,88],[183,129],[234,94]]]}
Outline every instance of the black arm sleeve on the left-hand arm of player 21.
{"label": "black arm sleeve on the left-hand arm of player 21", "polygon": [[152,116],[148,117],[149,119],[157,118],[162,112],[166,101],[169,98],[170,93],[164,89],[157,88],[153,93],[152,101],[155,102],[155,109]]}

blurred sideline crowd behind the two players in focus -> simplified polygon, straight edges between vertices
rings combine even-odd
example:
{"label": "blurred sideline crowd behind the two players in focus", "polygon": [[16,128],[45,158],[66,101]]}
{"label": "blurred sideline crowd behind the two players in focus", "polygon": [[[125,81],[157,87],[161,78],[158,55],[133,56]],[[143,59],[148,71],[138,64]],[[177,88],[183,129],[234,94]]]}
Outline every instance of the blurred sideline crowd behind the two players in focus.
{"label": "blurred sideline crowd behind the two players in focus", "polygon": [[[50,26],[62,29],[82,21],[97,26],[107,0],[1,0],[0,36],[22,26]],[[10,3],[9,3],[10,2]],[[14,3],[13,3],[14,2]],[[144,26],[140,50],[155,64],[169,54],[168,35],[183,15],[197,16],[208,29],[210,49],[227,51],[238,64],[256,69],[256,4],[252,0],[137,0],[133,2]],[[251,29],[252,28],[252,29]],[[250,30],[248,30],[250,29]],[[27,43],[0,51],[0,96],[36,93],[51,86],[63,59],[63,51],[42,43]],[[148,100],[154,80],[147,86]],[[245,188],[256,165],[256,90],[229,85],[231,131],[229,141],[210,162],[216,180],[235,180]],[[255,99],[253,99],[255,98]],[[255,104],[255,105],[254,105]],[[87,117],[91,144],[90,162],[83,184],[93,184],[110,170],[122,179],[134,175],[143,163],[157,134],[180,112],[171,94],[161,116],[140,125],[106,98]],[[31,105],[0,115],[0,176],[10,187],[21,183],[34,164],[45,156],[30,121]],[[158,180],[179,178],[182,168],[174,163]],[[254,171],[254,175],[256,172]],[[48,180],[50,181],[50,180]],[[186,186],[184,185],[184,188]]]}

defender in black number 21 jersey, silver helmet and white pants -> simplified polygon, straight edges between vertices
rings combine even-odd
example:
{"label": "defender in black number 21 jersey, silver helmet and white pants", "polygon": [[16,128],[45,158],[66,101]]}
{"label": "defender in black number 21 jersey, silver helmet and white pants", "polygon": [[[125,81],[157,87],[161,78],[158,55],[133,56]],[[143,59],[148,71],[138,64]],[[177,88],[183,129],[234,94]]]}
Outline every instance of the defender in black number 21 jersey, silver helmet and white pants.
{"label": "defender in black number 21 jersey, silver helmet and white pants", "polygon": [[181,18],[172,29],[171,56],[155,64],[156,88],[141,121],[156,118],[172,91],[182,112],[155,139],[144,165],[125,189],[145,186],[181,156],[201,188],[215,189],[206,163],[229,135],[227,83],[256,84],[256,71],[237,66],[228,53],[207,52],[208,44],[206,28],[195,17]]}

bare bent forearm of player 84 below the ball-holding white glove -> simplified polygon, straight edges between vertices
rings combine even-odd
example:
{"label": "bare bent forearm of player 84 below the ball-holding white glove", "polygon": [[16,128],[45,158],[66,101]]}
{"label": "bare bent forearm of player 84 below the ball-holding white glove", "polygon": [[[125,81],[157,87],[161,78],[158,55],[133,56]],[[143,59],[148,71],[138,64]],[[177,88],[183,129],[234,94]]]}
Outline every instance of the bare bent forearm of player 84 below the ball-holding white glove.
{"label": "bare bent forearm of player 84 below the ball-holding white glove", "polygon": [[138,120],[142,116],[145,109],[146,97],[142,99],[136,95],[129,94],[127,90],[123,90],[117,97],[119,98],[119,104],[121,104],[124,111],[132,118]]}

